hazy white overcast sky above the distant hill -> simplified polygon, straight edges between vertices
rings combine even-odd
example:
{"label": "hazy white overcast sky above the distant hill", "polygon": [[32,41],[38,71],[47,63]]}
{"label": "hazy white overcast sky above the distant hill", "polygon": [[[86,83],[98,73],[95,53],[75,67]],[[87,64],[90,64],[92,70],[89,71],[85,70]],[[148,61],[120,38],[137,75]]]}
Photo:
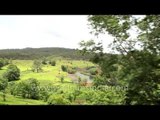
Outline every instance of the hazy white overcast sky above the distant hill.
{"label": "hazy white overcast sky above the distant hill", "polygon": [[[81,40],[96,39],[87,15],[0,15],[0,49],[26,47],[77,48]],[[107,46],[112,38],[101,36]]]}

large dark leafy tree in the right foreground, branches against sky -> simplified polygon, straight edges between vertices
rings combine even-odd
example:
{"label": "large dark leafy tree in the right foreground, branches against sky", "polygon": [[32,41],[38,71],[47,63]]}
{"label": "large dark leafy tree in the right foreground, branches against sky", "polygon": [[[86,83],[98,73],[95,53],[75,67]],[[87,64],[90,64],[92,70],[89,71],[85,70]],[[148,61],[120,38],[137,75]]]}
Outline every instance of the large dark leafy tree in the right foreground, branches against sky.
{"label": "large dark leafy tree in the right foreground, branches against sky", "polygon": [[[109,47],[119,55],[107,57],[101,54],[102,46],[91,44],[93,47],[87,49],[88,44],[80,45],[84,51],[95,54],[93,60],[100,65],[104,77],[126,81],[125,103],[159,104],[160,16],[91,15],[88,21],[95,35],[108,33],[114,38]],[[130,32],[133,28],[136,38]],[[116,64],[121,66],[121,71]]]}

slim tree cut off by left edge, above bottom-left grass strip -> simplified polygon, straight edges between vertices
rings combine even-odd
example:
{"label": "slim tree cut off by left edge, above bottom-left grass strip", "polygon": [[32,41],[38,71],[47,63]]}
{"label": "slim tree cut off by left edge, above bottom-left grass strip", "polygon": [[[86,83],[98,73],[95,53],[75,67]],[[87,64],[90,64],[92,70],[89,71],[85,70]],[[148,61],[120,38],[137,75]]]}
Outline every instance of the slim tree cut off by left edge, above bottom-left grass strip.
{"label": "slim tree cut off by left edge, above bottom-left grass strip", "polygon": [[0,91],[3,92],[3,101],[6,101],[6,88],[8,86],[8,80],[0,78]]}

